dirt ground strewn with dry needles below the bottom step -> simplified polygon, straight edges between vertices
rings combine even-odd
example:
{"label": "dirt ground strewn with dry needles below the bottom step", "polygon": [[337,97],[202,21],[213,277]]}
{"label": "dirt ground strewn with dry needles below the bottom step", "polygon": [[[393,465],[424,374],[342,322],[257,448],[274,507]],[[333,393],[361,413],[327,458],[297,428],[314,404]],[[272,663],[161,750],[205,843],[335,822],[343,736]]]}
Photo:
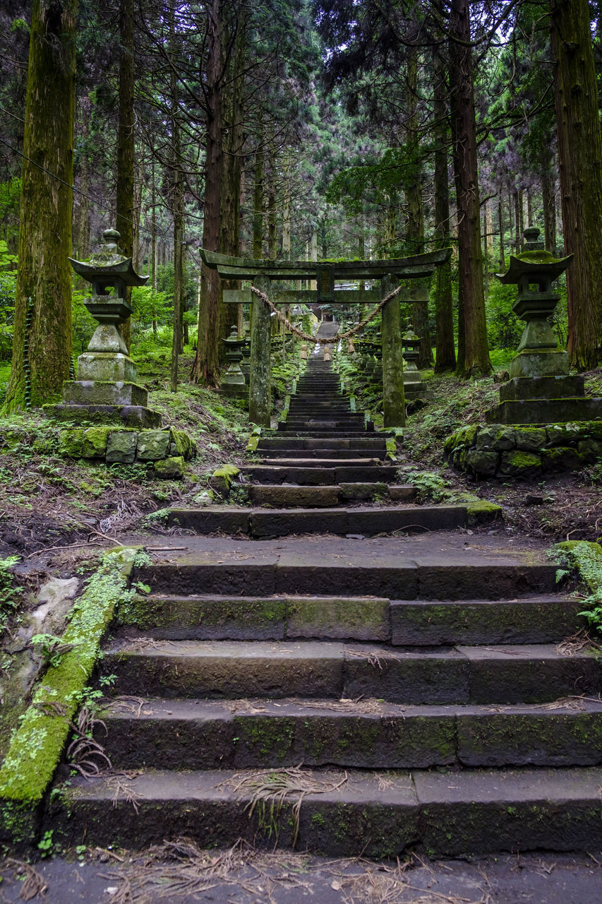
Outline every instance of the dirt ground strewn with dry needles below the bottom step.
{"label": "dirt ground strewn with dry needles below the bottom step", "polygon": [[165,844],[80,860],[0,863],[0,901],[44,904],[598,904],[602,854],[501,854],[471,861],[332,860],[245,845]]}

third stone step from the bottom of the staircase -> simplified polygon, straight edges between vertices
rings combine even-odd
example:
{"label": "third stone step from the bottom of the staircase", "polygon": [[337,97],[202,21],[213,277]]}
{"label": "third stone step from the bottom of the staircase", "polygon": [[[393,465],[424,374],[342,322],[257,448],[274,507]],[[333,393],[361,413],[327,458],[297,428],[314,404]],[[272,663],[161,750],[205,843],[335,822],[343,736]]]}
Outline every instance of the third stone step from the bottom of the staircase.
{"label": "third stone step from the bottom of the staircase", "polygon": [[104,651],[111,694],[236,699],[375,697],[408,704],[555,701],[602,691],[587,652],[554,645],[384,647],[332,641],[117,641]]}

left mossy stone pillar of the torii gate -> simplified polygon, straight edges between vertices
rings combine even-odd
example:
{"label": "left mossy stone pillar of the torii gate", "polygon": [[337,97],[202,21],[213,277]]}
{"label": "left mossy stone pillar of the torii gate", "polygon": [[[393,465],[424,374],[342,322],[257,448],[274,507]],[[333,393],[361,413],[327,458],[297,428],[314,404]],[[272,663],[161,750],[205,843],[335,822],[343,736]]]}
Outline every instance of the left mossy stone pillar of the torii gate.
{"label": "left mossy stone pillar of the torii gate", "polygon": [[[269,277],[256,276],[253,285],[269,297]],[[249,420],[258,427],[269,427],[272,411],[269,308],[256,295],[253,296],[250,333]]]}

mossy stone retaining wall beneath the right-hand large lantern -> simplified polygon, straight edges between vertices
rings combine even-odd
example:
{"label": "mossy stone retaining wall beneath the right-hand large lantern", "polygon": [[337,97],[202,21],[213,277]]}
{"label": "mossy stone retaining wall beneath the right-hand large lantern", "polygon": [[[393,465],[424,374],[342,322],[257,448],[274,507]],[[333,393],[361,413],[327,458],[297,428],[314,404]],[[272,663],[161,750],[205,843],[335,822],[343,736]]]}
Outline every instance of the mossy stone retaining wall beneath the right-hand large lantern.
{"label": "mossy stone retaining wall beneath the right-hand large lantern", "polygon": [[477,477],[537,477],[578,471],[602,457],[602,420],[544,427],[471,424],[445,442],[451,465]]}

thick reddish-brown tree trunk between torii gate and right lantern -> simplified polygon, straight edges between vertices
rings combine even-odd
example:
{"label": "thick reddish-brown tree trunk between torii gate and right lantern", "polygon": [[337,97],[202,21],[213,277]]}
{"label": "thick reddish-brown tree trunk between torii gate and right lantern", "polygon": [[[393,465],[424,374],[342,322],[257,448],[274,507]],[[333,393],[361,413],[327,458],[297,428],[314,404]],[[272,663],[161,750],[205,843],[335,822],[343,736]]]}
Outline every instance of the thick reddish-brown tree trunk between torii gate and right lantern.
{"label": "thick reddish-brown tree trunk between torii gate and right lantern", "polygon": [[468,0],[452,0],[449,16],[451,123],[458,207],[458,282],[465,326],[464,377],[492,370],[487,344],[476,157],[475,92]]}

